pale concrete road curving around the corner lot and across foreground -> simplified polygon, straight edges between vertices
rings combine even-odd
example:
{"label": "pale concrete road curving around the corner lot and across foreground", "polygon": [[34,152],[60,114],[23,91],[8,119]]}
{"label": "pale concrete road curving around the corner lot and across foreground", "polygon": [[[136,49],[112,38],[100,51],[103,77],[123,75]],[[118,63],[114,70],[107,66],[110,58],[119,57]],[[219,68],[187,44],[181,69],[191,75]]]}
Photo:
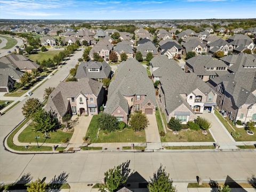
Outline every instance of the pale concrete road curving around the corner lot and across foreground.
{"label": "pale concrete road curving around the corner lot and across foreground", "polygon": [[[69,69],[82,57],[78,51],[58,73],[39,87],[31,97],[43,100],[46,87],[57,86],[66,78]],[[0,117],[0,183],[11,183],[23,174],[33,179],[46,177],[50,181],[54,175],[68,174],[68,182],[99,182],[110,167],[130,160],[130,167],[143,178],[149,179],[162,163],[174,181],[196,181],[196,176],[204,180],[225,180],[227,175],[235,180],[246,180],[256,174],[256,153],[249,151],[182,151],[182,152],[99,152],[79,151],[75,154],[26,154],[18,155],[4,150],[4,137],[22,121],[23,100],[8,113]]]}

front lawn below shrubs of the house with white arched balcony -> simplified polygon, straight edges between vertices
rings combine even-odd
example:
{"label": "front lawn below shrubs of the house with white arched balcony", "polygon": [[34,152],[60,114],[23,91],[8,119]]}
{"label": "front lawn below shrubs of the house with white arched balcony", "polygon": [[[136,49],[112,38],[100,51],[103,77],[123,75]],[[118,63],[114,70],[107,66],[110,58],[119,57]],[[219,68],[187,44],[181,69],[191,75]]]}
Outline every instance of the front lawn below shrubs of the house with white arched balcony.
{"label": "front lawn below shrubs of the house with white arched balcony", "polygon": [[214,142],[212,135],[209,131],[204,135],[202,130],[188,130],[179,131],[179,134],[174,135],[172,131],[167,130],[164,137],[161,137],[162,142]]}

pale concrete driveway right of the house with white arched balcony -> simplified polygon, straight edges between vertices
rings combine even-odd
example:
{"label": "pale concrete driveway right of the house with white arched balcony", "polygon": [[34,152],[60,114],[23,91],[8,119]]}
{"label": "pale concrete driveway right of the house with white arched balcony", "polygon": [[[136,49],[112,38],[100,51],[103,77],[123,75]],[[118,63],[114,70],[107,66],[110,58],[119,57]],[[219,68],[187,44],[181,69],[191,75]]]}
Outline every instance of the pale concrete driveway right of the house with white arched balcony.
{"label": "pale concrete driveway right of the house with white arched balcony", "polygon": [[214,113],[203,113],[198,116],[206,118],[212,124],[209,131],[211,132],[213,139],[220,145],[220,149],[237,149],[235,140]]}

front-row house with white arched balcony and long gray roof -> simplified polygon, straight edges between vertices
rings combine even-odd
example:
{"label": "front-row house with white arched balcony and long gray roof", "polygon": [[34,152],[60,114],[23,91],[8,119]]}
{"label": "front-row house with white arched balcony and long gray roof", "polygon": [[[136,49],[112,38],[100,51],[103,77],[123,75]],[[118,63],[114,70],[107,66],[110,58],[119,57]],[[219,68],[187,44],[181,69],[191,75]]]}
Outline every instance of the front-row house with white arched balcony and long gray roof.
{"label": "front-row house with white arched balcony and long gray roof", "polygon": [[[159,105],[167,122],[171,117],[182,123],[193,121],[196,113],[213,113],[217,94],[194,73],[185,73],[164,55],[151,60],[152,75],[159,78]],[[156,67],[157,66],[157,67]]]}

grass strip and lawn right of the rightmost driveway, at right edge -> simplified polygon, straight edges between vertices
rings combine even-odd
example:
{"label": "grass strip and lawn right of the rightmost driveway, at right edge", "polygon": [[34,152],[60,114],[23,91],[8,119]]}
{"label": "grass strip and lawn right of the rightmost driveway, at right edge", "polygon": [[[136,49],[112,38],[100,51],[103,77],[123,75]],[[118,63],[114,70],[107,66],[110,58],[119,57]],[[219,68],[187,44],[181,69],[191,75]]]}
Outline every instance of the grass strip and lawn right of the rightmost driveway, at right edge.
{"label": "grass strip and lawn right of the rightmost driveway, at right edge", "polygon": [[[214,114],[219,118],[221,123],[226,127],[228,132],[231,134],[232,132],[239,132],[241,134],[241,137],[235,138],[235,141],[256,141],[256,129],[254,129],[254,135],[247,134],[246,130],[244,128],[237,128],[235,125],[233,125],[233,122],[231,122],[228,117],[224,118],[217,110],[214,110]],[[230,126],[229,124],[232,126]],[[234,130],[233,130],[233,129]]]}

